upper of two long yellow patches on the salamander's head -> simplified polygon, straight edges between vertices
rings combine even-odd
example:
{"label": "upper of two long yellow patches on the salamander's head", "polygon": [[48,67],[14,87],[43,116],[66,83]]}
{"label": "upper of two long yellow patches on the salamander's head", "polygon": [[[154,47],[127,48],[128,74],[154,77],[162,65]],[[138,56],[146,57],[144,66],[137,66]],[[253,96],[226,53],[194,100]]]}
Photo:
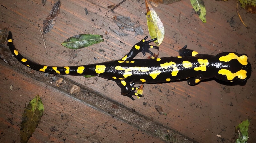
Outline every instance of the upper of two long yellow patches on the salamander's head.
{"label": "upper of two long yellow patches on the salamander's head", "polygon": [[228,62],[231,59],[237,59],[238,62],[240,62],[242,65],[247,65],[248,64],[248,62],[247,62],[248,57],[246,55],[242,55],[242,56],[238,57],[234,53],[229,53],[228,55],[222,56],[222,57],[219,58],[220,61],[224,61],[224,62]]}

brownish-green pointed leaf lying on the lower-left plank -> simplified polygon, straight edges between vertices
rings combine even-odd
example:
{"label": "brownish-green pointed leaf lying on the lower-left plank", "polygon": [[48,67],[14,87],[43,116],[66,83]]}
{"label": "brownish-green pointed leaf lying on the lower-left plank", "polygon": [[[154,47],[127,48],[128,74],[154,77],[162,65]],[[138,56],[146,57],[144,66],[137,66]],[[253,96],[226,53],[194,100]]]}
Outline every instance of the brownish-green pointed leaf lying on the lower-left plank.
{"label": "brownish-green pointed leaf lying on the lower-left plank", "polygon": [[32,133],[37,128],[38,123],[44,113],[44,105],[39,95],[37,95],[25,108],[22,115],[20,138],[21,143],[28,142]]}

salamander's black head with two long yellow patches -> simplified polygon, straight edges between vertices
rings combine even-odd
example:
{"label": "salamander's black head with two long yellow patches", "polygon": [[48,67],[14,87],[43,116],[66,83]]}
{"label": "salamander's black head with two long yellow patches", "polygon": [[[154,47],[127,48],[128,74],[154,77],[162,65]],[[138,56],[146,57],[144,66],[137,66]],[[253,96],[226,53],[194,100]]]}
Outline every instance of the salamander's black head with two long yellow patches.
{"label": "salamander's black head with two long yellow patches", "polygon": [[246,54],[224,52],[216,55],[216,61],[221,65],[215,78],[222,81],[245,81],[251,75],[251,64]]}

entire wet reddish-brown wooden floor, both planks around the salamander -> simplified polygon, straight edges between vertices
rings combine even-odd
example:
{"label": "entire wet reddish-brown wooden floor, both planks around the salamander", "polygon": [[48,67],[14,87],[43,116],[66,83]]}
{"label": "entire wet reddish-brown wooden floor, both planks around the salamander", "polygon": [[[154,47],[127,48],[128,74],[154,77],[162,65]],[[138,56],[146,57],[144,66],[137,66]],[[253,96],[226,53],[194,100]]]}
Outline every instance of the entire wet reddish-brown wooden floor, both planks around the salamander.
{"label": "entire wet reddish-brown wooden floor, both planks around the salamander", "polygon": [[[144,1],[128,0],[113,13],[107,6],[120,1],[61,0],[56,24],[52,31],[44,35],[48,49],[46,54],[38,24],[43,26],[43,20],[48,16],[54,2],[56,1],[47,1],[43,6],[40,0],[9,0],[2,3],[6,8],[1,6],[0,9],[0,28],[8,26],[19,52],[37,63],[70,66],[116,60],[128,53],[135,43],[149,35]],[[186,81],[144,84],[144,97],[132,101],[121,96],[120,88],[114,81],[97,77],[62,77],[120,107],[132,108],[136,115],[152,122],[152,125],[160,125],[168,131],[174,130],[194,142],[233,142],[235,126],[246,119],[251,120],[249,141],[255,140],[256,16],[246,13],[243,9],[239,10],[250,27],[246,29],[236,14],[236,1],[205,0],[204,3],[207,10],[206,24],[194,13],[189,0],[154,8],[165,26],[165,39],[159,47],[159,57],[177,56],[177,51],[184,45],[202,54],[215,55],[225,51],[246,53],[253,70],[246,84],[223,85],[215,80],[207,80],[193,87],[187,85]],[[87,8],[89,15],[85,15],[84,8]],[[134,36],[134,32],[124,30],[129,36],[116,35],[110,28],[118,30],[112,17],[119,15],[131,17],[132,21],[142,26],[145,34]],[[82,33],[100,34],[105,40],[80,50],[69,50],[60,45],[67,38]],[[1,47],[10,52],[6,44]],[[136,58],[146,57],[139,54]],[[121,113],[109,115],[101,110],[100,106],[90,106],[77,100],[76,96],[80,95],[70,96],[56,87],[45,88],[44,82],[31,78],[31,70],[27,67],[18,63],[10,66],[3,61],[0,65],[1,142],[19,142],[23,107],[36,94],[43,98],[45,115],[31,142],[170,141],[168,139],[171,134],[168,131],[164,132],[165,137],[160,137],[156,132],[161,130],[150,130],[151,125],[134,125],[136,119],[129,120]],[[17,67],[22,67],[20,70],[24,72],[17,71]],[[38,72],[36,76],[40,79],[44,75]],[[11,85],[15,85],[12,90],[9,88]],[[162,107],[166,116],[157,112],[156,105]],[[112,114],[115,118],[111,117]],[[52,126],[57,126],[59,130],[51,132],[49,128]],[[113,126],[117,127],[117,130]]]}

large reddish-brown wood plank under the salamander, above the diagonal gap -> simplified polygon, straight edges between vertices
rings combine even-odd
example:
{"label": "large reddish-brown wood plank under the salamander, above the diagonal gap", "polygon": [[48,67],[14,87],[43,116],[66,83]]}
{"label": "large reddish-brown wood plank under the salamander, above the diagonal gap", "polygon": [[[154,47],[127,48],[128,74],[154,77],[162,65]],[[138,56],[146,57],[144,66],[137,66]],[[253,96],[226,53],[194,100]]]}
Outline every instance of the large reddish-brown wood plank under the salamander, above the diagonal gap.
{"label": "large reddish-brown wood plank under the salamander, above the diagonal gap", "polygon": [[[1,27],[10,27],[9,30],[14,35],[14,44],[24,56],[41,64],[58,66],[116,60],[148,35],[145,5],[142,1],[126,1],[114,10],[114,13],[110,12],[107,6],[117,4],[119,1],[116,0],[61,2],[61,13],[56,25],[45,35],[48,54],[44,52],[37,25],[42,26],[53,2],[48,1],[42,6],[40,0],[10,0],[4,4],[7,9],[0,9],[4,19],[4,22],[0,23]],[[215,55],[224,51],[235,51],[248,54],[252,69],[255,69],[256,16],[240,10],[240,15],[250,27],[248,30],[236,15],[236,1],[205,1],[205,6],[206,24],[198,19],[188,0],[154,8],[162,18],[166,31],[159,56],[177,56],[177,51],[184,45],[202,54]],[[85,15],[85,7],[89,11],[88,16]],[[177,23],[180,13],[180,22]],[[145,34],[135,37],[134,33],[125,31],[130,35],[115,35],[109,27],[117,29],[111,17],[118,15],[130,16],[135,22],[138,21]],[[228,20],[233,22],[227,22]],[[106,31],[108,33],[105,35]],[[68,37],[81,33],[104,35],[105,41],[81,50],[67,50],[60,45]],[[104,52],[100,52],[102,50]],[[94,57],[97,60],[94,60]],[[145,57],[139,54],[136,58]],[[193,87],[188,86],[186,81],[145,84],[144,98],[135,101],[121,96],[120,89],[114,81],[64,77],[114,103],[133,108],[142,117],[178,131],[196,142],[232,142],[234,126],[246,119],[252,120],[249,139],[255,140],[255,72],[252,72],[250,79],[243,86],[222,85],[214,80]],[[161,106],[167,116],[159,115],[155,105]],[[221,138],[216,134],[220,134]]]}

